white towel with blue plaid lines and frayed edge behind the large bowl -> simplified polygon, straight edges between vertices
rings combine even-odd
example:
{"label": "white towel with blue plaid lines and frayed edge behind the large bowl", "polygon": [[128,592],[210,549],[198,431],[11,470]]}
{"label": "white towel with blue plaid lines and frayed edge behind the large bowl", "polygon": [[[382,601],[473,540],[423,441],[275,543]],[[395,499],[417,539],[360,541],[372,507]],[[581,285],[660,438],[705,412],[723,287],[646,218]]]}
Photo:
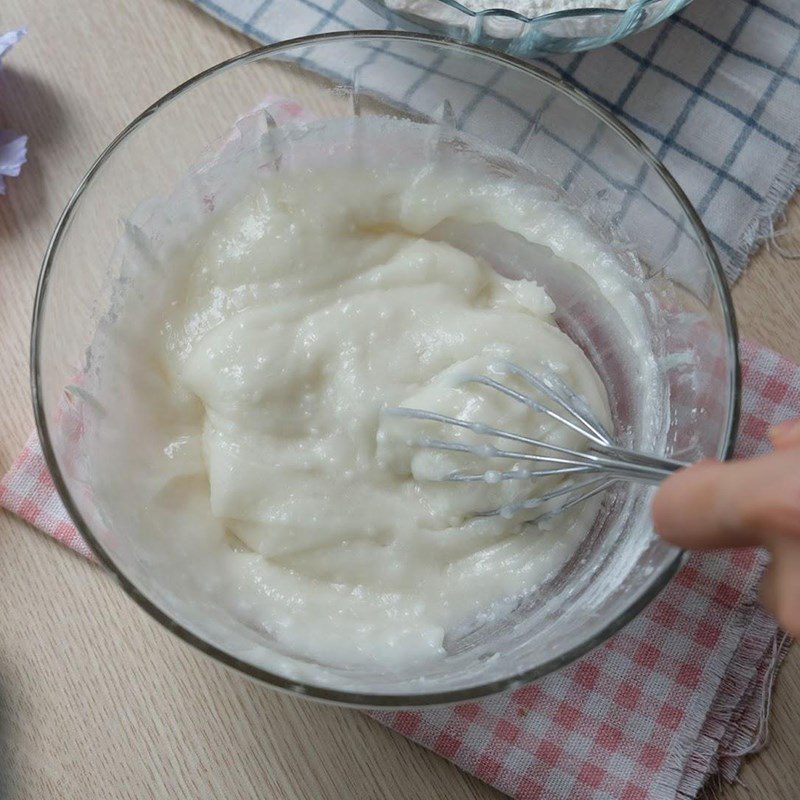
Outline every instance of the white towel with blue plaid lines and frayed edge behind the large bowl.
{"label": "white towel with blue plaid lines and frayed edge behind the large bowl", "polygon": [[[386,27],[360,0],[194,2],[263,43]],[[695,0],[616,45],[538,63],[642,137],[686,191],[737,278],[800,185],[800,0]],[[436,69],[410,70],[409,90],[424,91],[425,73]],[[503,109],[501,90],[472,89],[473,113],[485,114],[483,104]],[[518,124],[522,133],[528,120]]]}

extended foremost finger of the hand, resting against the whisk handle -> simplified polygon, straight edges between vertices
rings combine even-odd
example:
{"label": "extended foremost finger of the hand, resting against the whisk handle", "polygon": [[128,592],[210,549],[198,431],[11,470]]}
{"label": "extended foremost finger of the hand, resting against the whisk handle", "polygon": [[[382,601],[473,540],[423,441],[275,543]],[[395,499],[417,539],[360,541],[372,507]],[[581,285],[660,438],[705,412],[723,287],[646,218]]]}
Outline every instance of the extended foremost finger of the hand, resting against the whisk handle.
{"label": "extended foremost finger of the hand, resting against the whisk handle", "polygon": [[776,535],[800,536],[800,450],[729,463],[701,462],[668,478],[653,502],[653,523],[689,549],[750,547]]}

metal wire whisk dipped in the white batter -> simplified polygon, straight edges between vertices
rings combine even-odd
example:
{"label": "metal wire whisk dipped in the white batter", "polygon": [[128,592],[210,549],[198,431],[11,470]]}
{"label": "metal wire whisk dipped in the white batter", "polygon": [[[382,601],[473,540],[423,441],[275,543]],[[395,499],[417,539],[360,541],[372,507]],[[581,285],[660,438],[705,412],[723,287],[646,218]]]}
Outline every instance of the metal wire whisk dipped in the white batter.
{"label": "metal wire whisk dipped in the white batter", "polygon": [[[526,453],[506,449],[492,444],[466,444],[444,441],[430,437],[420,437],[413,445],[432,450],[450,450],[470,453],[484,458],[510,459],[517,462],[530,462],[532,469],[514,468],[508,471],[487,470],[485,472],[455,471],[443,475],[438,480],[458,482],[499,483],[500,481],[535,481],[551,476],[565,476],[566,481],[543,494],[510,503],[488,511],[477,512],[475,516],[502,516],[512,518],[522,511],[551,506],[541,515],[530,521],[541,521],[566,511],[569,508],[600,494],[617,481],[634,481],[657,484],[682,467],[679,461],[645,455],[622,447],[606,430],[589,409],[587,403],[576,394],[555,372],[541,369],[536,374],[510,362],[497,362],[498,374],[517,376],[524,384],[552,401],[554,407],[545,405],[526,392],[517,391],[486,375],[470,375],[463,378],[462,384],[480,384],[504,394],[528,408],[545,414],[562,425],[566,425],[584,437],[588,442],[586,451],[561,447],[521,433],[501,430],[481,422],[449,417],[434,411],[420,408],[393,407],[384,409],[385,414],[395,417],[426,420],[465,428],[480,436],[494,437],[509,442],[529,445],[544,453]],[[558,502],[555,502],[558,501]]]}

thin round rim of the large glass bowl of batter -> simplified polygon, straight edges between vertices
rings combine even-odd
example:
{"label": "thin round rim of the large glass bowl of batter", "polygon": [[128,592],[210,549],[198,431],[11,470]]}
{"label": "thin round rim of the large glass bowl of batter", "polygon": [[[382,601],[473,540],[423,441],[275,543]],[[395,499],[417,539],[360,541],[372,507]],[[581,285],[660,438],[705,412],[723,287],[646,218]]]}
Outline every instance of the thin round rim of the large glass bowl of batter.
{"label": "thin round rim of the large glass bowl of batter", "polygon": [[36,287],[36,295],[34,299],[33,318],[31,323],[31,351],[30,351],[30,380],[31,380],[31,395],[33,400],[33,413],[36,421],[36,429],[39,435],[39,440],[42,446],[45,463],[53,478],[53,483],[64,503],[64,507],[72,518],[73,523],[80,535],[86,540],[98,561],[103,564],[119,581],[124,591],[143,608],[151,617],[157,622],[161,623],[167,630],[176,634],[183,641],[194,646],[201,652],[212,657],[216,661],[228,666],[240,673],[243,673],[255,680],[268,684],[273,688],[281,689],[292,694],[300,695],[303,697],[313,697],[318,700],[323,700],[329,703],[337,703],[349,706],[361,706],[368,708],[408,708],[414,706],[428,706],[428,705],[443,705],[450,703],[465,702],[474,700],[487,695],[495,694],[503,691],[504,689],[520,686],[525,683],[530,683],[538,678],[542,678],[551,672],[561,669],[572,661],[580,658],[585,653],[597,647],[599,644],[608,639],[612,634],[616,633],[628,622],[634,619],[640,611],[642,611],[650,601],[666,586],[670,579],[675,575],[680,566],[683,564],[686,554],[676,551],[674,558],[669,563],[663,565],[661,569],[654,573],[650,584],[646,589],[635,597],[628,606],[623,609],[614,619],[604,625],[604,627],[594,636],[587,638],[579,644],[573,646],[561,655],[549,659],[548,661],[539,664],[529,670],[511,675],[499,680],[489,681],[486,683],[470,686],[464,689],[456,689],[441,692],[429,692],[420,694],[370,694],[361,692],[344,691],[340,689],[330,689],[324,686],[316,686],[306,684],[298,681],[293,681],[281,675],[276,675],[268,670],[261,669],[246,661],[235,658],[229,653],[220,649],[219,647],[210,644],[201,637],[192,633],[176,620],[172,619],[168,614],[162,611],[155,603],[149,600],[139,589],[133,584],[123,573],[122,569],[112,560],[102,544],[95,538],[89,525],[83,519],[77,504],[73,501],[69,489],[67,488],[64,476],[58,466],[58,461],[55,456],[55,450],[48,430],[47,419],[44,410],[43,387],[42,387],[42,374],[41,374],[41,333],[42,333],[42,320],[44,316],[45,301],[47,299],[47,287],[49,282],[50,272],[53,268],[55,258],[58,253],[59,243],[64,235],[69,221],[77,207],[79,200],[83,193],[89,187],[94,175],[100,170],[103,164],[113,155],[117,147],[140,125],[144,124],[152,115],[154,115],[160,108],[170,103],[176,97],[181,95],[186,90],[192,88],[196,84],[211,78],[212,76],[221,73],[225,70],[232,69],[241,64],[247,64],[253,61],[258,61],[261,58],[269,57],[273,54],[282,51],[291,50],[297,47],[309,46],[328,41],[366,41],[369,39],[381,39],[390,41],[409,41],[422,44],[431,44],[437,47],[447,47],[454,50],[461,50],[467,53],[474,53],[482,58],[494,59],[503,65],[521,69],[528,73],[531,78],[544,82],[551,86],[556,91],[561,92],[563,95],[571,99],[573,102],[578,103],[580,106],[590,111],[598,119],[611,127],[619,136],[621,136],[631,147],[633,147],[638,154],[653,167],[659,174],[661,179],[667,185],[669,190],[675,196],[683,212],[686,214],[689,223],[698,237],[698,241],[702,244],[705,255],[711,266],[712,276],[714,279],[715,289],[722,304],[724,313],[724,323],[727,331],[727,342],[729,350],[730,364],[732,369],[728,375],[728,386],[731,393],[732,402],[728,413],[728,420],[726,423],[726,435],[721,452],[718,453],[720,458],[729,458],[733,451],[736,430],[739,422],[740,411],[740,395],[741,395],[741,369],[739,364],[738,353],[738,332],[736,326],[736,318],[733,310],[733,303],[722,269],[722,265],[717,256],[714,245],[705,229],[705,226],[700,220],[697,212],[686,197],[683,190],[677,184],[666,167],[653,155],[639,137],[633,133],[626,125],[617,120],[610,112],[606,111],[602,106],[594,100],[583,94],[580,90],[576,89],[571,84],[563,79],[553,77],[544,72],[539,67],[534,66],[526,61],[523,61],[513,56],[497,53],[493,50],[480,47],[478,45],[454,42],[440,36],[433,36],[418,33],[406,33],[397,31],[380,31],[380,30],[365,30],[365,31],[342,31],[335,33],[318,34],[312,36],[303,36],[295,39],[289,39],[285,42],[278,42],[276,44],[267,45],[265,47],[256,48],[241,55],[234,56],[220,62],[208,69],[198,73],[187,81],[176,86],[170,92],[167,92],[163,97],[153,103],[149,108],[145,109],[139,116],[130,122],[123,130],[111,141],[111,143],[103,150],[97,157],[95,162],[89,167],[84,177],[79,182],[72,197],[67,202],[64,211],[56,223],[56,227],[50,238],[50,242],[45,251],[44,259],[42,261],[41,272],[39,274],[39,281]]}

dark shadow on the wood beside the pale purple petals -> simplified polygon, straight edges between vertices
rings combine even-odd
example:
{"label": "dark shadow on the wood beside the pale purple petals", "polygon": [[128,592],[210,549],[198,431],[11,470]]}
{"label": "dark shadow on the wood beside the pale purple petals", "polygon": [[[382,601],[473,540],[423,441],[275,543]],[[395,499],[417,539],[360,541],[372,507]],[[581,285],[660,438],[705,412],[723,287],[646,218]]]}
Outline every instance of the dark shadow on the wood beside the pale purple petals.
{"label": "dark shadow on the wood beside the pale purple petals", "polygon": [[[0,70],[0,129],[28,137],[28,160],[16,178],[6,178],[0,196],[0,241],[19,234],[47,212],[44,157],[64,137],[67,115],[51,86],[36,75],[4,66]],[[66,197],[62,198],[66,201]]]}

